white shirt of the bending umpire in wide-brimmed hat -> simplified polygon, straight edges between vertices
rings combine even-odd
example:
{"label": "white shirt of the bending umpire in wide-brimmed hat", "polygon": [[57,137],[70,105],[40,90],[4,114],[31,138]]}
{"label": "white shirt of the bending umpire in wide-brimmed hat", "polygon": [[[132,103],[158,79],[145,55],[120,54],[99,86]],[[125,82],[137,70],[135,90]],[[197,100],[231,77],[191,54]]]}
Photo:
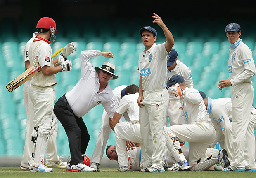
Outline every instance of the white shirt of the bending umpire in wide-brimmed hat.
{"label": "white shirt of the bending umpire in wide-brimmed hat", "polygon": [[81,52],[81,78],[73,89],[66,93],[66,99],[77,117],[84,116],[90,109],[102,104],[109,117],[113,118],[117,106],[116,98],[109,84],[102,92],[98,93],[100,88],[98,73],[90,62],[90,58],[96,56],[102,56],[101,51]]}

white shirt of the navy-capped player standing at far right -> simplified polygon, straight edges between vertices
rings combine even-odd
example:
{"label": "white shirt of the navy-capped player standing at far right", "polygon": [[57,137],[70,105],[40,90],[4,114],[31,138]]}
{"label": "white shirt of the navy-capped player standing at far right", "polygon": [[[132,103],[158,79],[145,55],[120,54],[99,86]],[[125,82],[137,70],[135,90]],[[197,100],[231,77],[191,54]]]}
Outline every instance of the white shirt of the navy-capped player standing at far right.
{"label": "white shirt of the navy-capped player standing at far right", "polygon": [[232,86],[239,83],[251,83],[251,77],[256,73],[252,52],[249,47],[238,39],[230,46],[228,72]]}

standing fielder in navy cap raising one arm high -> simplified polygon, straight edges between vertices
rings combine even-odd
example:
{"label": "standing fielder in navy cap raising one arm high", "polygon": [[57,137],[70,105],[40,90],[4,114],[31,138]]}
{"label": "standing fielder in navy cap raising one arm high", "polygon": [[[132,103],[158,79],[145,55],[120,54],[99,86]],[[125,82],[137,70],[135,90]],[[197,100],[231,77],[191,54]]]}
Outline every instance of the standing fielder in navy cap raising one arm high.
{"label": "standing fielder in navy cap raising one arm high", "polygon": [[167,54],[174,45],[173,35],[162,19],[154,13],[153,23],[163,30],[166,42],[155,44],[157,32],[146,26],[140,29],[145,50],[139,55],[140,93],[137,103],[140,106],[140,132],[149,158],[147,172],[164,172],[164,125],[168,109],[166,86]]}

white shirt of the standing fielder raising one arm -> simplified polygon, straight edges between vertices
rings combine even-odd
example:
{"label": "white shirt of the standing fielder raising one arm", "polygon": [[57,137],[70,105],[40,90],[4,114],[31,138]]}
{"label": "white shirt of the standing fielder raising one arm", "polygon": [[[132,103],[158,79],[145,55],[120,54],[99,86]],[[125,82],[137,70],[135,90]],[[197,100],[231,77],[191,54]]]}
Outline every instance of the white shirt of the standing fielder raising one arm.
{"label": "white shirt of the standing fielder raising one arm", "polygon": [[166,87],[167,54],[164,43],[153,44],[139,55],[138,74],[142,78],[142,90],[150,91]]}

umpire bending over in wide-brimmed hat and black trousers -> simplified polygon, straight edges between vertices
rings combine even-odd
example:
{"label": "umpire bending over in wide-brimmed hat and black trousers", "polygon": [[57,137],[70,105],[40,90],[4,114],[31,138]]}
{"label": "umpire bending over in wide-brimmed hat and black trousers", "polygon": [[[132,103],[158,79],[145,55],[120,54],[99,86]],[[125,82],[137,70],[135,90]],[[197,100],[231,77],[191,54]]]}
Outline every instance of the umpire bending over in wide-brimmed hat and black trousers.
{"label": "umpire bending over in wide-brimmed hat and black trousers", "polygon": [[69,138],[71,162],[67,170],[72,172],[91,172],[94,168],[83,164],[81,153],[85,154],[90,135],[83,122],[84,116],[90,109],[102,104],[108,116],[113,118],[117,107],[116,98],[109,87],[110,79],[117,79],[114,74],[115,65],[104,62],[102,67],[93,67],[90,58],[104,56],[114,58],[111,51],[98,50],[82,51],[81,78],[76,86],[65,95],[60,97],[54,106],[54,113],[62,123]]}

